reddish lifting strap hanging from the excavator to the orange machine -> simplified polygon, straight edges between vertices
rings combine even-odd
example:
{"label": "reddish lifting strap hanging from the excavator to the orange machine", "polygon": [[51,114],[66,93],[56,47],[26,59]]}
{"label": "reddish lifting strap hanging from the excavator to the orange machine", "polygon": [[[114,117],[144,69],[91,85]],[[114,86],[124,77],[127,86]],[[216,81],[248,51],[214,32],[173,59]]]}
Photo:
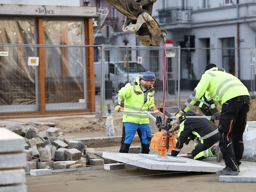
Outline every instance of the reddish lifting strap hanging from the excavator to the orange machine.
{"label": "reddish lifting strap hanging from the excavator to the orange machine", "polygon": [[166,44],[165,38],[163,39],[164,47],[163,47],[163,121],[165,121],[165,88],[166,88]]}

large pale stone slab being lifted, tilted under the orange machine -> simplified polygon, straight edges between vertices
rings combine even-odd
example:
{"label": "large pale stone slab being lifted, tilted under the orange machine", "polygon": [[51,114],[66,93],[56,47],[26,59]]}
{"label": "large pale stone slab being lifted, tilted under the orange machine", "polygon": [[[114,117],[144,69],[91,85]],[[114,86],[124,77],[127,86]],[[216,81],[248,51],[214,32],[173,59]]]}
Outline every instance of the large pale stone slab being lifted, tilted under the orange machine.
{"label": "large pale stone slab being lifted, tilted under the orange machine", "polygon": [[[169,171],[194,171],[194,172],[210,172],[215,173],[223,169],[223,166],[219,166],[204,161],[198,161],[194,159],[188,159],[183,157],[176,157],[178,160],[186,160],[182,162],[164,162],[153,159],[143,159],[140,154],[133,153],[114,153],[114,152],[103,152],[103,157],[113,159],[119,162],[128,163],[137,167],[143,167],[152,170],[169,170]],[[153,155],[154,156],[154,155]]]}

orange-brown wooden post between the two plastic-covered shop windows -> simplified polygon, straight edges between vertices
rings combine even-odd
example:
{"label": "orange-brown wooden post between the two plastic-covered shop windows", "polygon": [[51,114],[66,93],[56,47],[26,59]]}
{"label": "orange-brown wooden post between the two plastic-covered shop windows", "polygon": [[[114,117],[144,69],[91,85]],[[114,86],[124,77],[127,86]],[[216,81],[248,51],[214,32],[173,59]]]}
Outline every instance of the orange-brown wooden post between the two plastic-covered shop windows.
{"label": "orange-brown wooden post between the two plastic-covered shop windows", "polygon": [[[37,44],[45,44],[44,37],[44,19],[41,17],[37,18]],[[37,53],[39,57],[39,65],[38,65],[38,88],[39,88],[39,110],[41,115],[46,114],[46,89],[45,89],[45,48],[38,47]]]}

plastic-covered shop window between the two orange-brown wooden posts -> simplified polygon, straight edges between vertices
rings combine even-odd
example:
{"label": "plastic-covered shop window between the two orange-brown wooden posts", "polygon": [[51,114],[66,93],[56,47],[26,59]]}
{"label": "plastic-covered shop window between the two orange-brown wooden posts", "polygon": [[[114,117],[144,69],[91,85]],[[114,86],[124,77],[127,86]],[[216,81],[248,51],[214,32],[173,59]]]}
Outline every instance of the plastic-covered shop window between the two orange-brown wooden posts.
{"label": "plastic-covered shop window between the two orange-brown wooden posts", "polygon": [[[44,20],[46,104],[78,102],[84,98],[85,48],[82,19]],[[70,45],[71,47],[62,47]]]}

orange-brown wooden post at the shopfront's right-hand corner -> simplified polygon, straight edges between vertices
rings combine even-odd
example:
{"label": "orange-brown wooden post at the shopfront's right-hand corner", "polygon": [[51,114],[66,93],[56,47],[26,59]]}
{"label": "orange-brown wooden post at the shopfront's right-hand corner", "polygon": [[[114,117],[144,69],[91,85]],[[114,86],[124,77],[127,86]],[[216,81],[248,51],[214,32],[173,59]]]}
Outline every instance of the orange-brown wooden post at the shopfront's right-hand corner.
{"label": "orange-brown wooden post at the shopfront's right-hand corner", "polygon": [[[85,19],[85,44],[93,45],[92,18]],[[93,47],[85,48],[86,83],[87,83],[87,108],[95,112],[95,84],[94,84],[94,52]],[[84,93],[86,94],[86,93]]]}

